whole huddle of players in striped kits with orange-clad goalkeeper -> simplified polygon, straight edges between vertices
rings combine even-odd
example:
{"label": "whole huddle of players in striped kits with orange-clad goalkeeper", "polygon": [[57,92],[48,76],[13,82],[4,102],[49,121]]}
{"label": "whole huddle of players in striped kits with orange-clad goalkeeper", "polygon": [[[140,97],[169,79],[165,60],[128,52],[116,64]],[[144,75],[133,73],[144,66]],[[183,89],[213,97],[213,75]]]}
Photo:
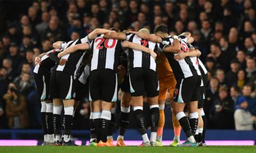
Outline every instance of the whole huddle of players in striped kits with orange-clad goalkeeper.
{"label": "whole huddle of players in striped kits with orange-clad goalkeeper", "polygon": [[[165,25],[156,27],[154,34],[148,29],[122,33],[115,28],[95,29],[76,41],[55,42],[53,50],[35,59],[44,144],[73,145],[72,119],[79,101],[86,96],[91,108],[90,146],[125,146],[131,109],[143,139],[140,146],[163,146],[164,105],[169,92],[175,134],[170,145],[205,145],[207,70],[192,42],[190,33],[169,36]],[[121,58],[124,55],[127,58]],[[121,115],[117,143],[113,144],[118,91],[122,92]],[[150,116],[143,113],[143,96],[148,98]],[[145,117],[150,119],[150,138]],[[182,144],[181,127],[187,136]]]}

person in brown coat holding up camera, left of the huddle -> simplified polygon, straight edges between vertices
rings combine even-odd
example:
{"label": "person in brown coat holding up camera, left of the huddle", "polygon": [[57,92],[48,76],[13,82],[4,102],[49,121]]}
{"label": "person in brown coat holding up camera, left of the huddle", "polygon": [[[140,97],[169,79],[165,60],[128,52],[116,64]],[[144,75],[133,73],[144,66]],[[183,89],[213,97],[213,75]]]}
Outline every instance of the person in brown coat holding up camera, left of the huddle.
{"label": "person in brown coat holding up camera, left of the huddle", "polygon": [[6,115],[9,127],[13,129],[27,128],[29,122],[26,99],[17,92],[15,84],[9,84],[4,99],[6,100]]}

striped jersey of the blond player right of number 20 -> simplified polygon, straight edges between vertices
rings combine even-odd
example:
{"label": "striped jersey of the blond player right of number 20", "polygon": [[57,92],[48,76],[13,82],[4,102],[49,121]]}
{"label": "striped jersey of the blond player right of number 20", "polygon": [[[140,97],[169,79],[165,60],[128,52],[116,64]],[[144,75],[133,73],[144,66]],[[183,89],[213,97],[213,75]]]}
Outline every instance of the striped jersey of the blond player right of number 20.
{"label": "striped jersey of the blond player right of number 20", "polygon": [[[144,47],[154,50],[154,52],[157,52],[159,48],[159,45],[157,43],[153,43],[148,40],[143,40],[136,34],[131,34],[131,33],[126,34],[126,40],[132,43],[138,43],[140,45],[143,45]],[[129,63],[130,69],[149,68],[156,71],[156,61],[150,54],[146,52],[142,52],[140,50],[133,50],[129,48],[129,61],[130,61]]]}

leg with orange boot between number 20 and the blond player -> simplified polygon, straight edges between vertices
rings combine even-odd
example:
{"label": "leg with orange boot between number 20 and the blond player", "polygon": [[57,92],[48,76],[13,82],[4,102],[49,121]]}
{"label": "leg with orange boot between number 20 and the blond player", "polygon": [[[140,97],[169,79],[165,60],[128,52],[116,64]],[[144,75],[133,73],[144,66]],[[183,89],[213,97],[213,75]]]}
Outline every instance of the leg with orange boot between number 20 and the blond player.
{"label": "leg with orange boot between number 20 and the blond player", "polygon": [[120,115],[120,120],[119,120],[120,128],[119,128],[119,135],[117,137],[116,146],[125,146],[124,134],[125,134],[127,126],[129,125],[130,106],[131,106],[130,92],[122,91],[121,115]]}

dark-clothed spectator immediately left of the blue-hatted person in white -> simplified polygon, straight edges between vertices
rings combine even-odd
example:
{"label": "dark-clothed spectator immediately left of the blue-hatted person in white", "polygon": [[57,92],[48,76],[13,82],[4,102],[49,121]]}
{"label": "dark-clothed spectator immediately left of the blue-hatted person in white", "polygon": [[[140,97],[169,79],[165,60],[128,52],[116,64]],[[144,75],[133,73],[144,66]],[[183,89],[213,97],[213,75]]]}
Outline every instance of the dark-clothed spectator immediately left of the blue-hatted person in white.
{"label": "dark-clothed spectator immediately left of the blue-hatted person in white", "polygon": [[234,103],[228,98],[227,87],[220,87],[218,95],[214,101],[214,127],[216,129],[234,129]]}

